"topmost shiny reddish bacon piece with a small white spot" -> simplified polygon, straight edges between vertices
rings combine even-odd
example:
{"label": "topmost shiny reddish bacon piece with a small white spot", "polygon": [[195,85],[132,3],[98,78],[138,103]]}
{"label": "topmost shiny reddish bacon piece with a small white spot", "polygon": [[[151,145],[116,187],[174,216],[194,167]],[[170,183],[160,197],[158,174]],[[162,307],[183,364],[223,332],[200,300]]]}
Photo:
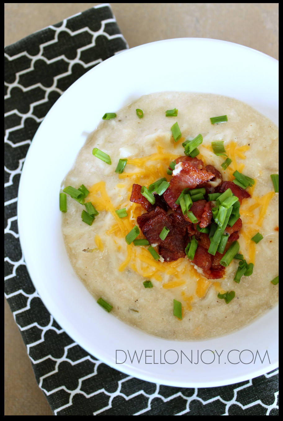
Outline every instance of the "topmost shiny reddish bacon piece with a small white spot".
{"label": "topmost shiny reddish bacon piece with a small white spot", "polygon": [[[170,185],[163,194],[164,199],[172,209],[177,209],[178,205],[175,202],[183,189],[195,189],[199,184],[214,177],[214,174],[206,171],[204,163],[197,158],[180,157],[176,159],[176,163],[174,170],[176,175],[173,174]],[[180,169],[179,172],[178,169]]]}

